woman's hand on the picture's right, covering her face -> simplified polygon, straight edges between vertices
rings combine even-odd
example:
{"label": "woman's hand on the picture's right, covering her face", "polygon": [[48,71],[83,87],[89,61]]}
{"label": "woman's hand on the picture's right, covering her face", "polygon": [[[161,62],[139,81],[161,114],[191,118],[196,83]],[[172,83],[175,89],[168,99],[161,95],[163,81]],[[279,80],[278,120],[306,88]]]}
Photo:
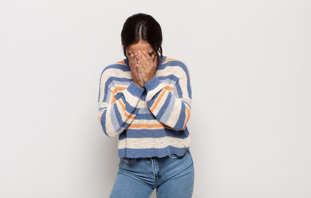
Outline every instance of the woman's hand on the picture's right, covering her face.
{"label": "woman's hand on the picture's right, covering her face", "polygon": [[157,58],[155,54],[150,56],[146,51],[138,51],[137,56],[137,64],[141,68],[142,77],[146,84],[155,76]]}

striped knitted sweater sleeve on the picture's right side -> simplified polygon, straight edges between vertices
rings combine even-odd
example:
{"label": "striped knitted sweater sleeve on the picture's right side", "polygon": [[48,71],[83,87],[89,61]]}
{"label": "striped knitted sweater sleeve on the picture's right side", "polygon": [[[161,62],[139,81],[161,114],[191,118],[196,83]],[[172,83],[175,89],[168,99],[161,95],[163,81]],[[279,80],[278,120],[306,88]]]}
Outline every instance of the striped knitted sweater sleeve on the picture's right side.
{"label": "striped knitted sweater sleeve on the picture's right side", "polygon": [[183,62],[173,60],[171,65],[158,72],[158,77],[145,84],[148,107],[166,127],[175,131],[184,130],[190,118],[192,102],[188,68]]}

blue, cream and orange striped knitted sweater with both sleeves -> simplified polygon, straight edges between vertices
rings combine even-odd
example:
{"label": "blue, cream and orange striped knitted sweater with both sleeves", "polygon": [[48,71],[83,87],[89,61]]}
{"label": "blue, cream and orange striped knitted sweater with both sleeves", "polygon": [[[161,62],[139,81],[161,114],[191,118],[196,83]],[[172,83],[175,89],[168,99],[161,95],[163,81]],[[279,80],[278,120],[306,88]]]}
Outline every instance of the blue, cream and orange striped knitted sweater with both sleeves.
{"label": "blue, cream and orange striped knitted sweater with both sleeves", "polygon": [[191,101],[190,75],[182,61],[160,58],[144,89],[134,84],[124,59],[101,73],[98,120],[107,136],[119,136],[120,158],[180,156],[190,145]]}

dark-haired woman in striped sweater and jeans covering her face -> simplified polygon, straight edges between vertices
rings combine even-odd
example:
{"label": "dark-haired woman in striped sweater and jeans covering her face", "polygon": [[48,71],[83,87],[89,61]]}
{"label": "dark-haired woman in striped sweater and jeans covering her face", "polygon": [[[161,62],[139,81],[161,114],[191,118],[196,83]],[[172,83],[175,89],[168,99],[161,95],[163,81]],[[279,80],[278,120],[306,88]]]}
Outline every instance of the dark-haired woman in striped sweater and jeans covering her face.
{"label": "dark-haired woman in striped sweater and jeans covering her face", "polygon": [[187,66],[162,55],[162,32],[147,14],[124,23],[126,58],[100,78],[98,120],[119,136],[119,171],[110,198],[191,198],[194,168],[187,121],[191,85]]}

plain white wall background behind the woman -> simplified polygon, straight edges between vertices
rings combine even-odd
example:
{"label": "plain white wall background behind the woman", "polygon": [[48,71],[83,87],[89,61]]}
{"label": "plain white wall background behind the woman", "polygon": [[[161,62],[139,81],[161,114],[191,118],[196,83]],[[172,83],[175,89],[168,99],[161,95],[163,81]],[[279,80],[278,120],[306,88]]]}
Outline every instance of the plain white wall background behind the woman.
{"label": "plain white wall background behind the woman", "polygon": [[108,197],[99,77],[138,12],[191,73],[193,198],[310,198],[310,0],[0,0],[0,197]]}

